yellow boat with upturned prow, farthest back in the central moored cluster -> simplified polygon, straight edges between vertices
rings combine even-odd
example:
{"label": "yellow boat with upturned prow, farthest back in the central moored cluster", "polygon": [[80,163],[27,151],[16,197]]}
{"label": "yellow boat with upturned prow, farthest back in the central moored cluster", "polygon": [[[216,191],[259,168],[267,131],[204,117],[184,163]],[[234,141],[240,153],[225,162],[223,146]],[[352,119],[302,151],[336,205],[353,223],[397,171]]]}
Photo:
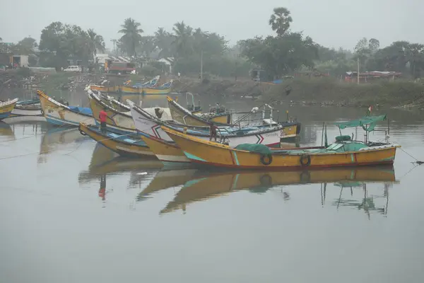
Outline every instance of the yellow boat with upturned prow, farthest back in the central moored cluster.
{"label": "yellow boat with upturned prow, farthest back in the central moored cluster", "polygon": [[179,105],[176,100],[173,100],[169,96],[167,96],[167,101],[172,119],[175,120],[175,122],[179,122],[184,125],[204,127],[208,127],[211,124],[227,126],[231,124],[231,114],[228,112],[223,114],[208,113],[194,115],[192,112]]}

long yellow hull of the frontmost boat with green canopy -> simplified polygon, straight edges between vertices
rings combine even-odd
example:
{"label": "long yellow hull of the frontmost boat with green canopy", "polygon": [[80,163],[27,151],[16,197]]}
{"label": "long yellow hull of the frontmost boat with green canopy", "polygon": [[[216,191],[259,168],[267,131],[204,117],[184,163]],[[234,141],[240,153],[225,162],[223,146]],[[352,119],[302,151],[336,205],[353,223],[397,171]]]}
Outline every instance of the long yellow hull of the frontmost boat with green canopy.
{"label": "long yellow hull of the frontmost boat with green canopy", "polygon": [[[264,157],[261,154],[232,149],[230,146],[216,142],[204,141],[187,134],[176,132],[163,127],[165,132],[181,147],[184,154],[192,162],[208,166],[228,168],[315,168],[337,166],[365,166],[392,164],[396,154],[396,145],[375,146],[367,150],[351,151],[343,153],[324,153],[290,155],[272,154],[271,163],[265,165],[261,162]],[[305,159],[306,158],[306,159]],[[302,160],[307,160],[306,166]],[[303,162],[305,164],[305,162]]]}

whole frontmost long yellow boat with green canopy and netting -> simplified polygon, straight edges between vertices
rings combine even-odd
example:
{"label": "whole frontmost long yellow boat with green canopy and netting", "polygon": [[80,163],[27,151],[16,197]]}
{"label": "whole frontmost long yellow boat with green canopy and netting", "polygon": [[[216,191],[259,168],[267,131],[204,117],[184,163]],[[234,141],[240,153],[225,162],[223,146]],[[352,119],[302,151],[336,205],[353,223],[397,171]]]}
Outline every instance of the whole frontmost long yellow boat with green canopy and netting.
{"label": "whole frontmost long yellow boat with green canopy and netting", "polygon": [[339,129],[363,127],[365,141],[355,141],[350,136],[338,136],[334,144],[298,149],[270,149],[263,144],[240,144],[232,147],[199,137],[162,129],[181,147],[194,163],[227,168],[316,168],[336,166],[365,166],[392,164],[397,144],[368,141],[368,133],[375,123],[386,120],[386,115],[367,116],[350,122],[337,123]]}

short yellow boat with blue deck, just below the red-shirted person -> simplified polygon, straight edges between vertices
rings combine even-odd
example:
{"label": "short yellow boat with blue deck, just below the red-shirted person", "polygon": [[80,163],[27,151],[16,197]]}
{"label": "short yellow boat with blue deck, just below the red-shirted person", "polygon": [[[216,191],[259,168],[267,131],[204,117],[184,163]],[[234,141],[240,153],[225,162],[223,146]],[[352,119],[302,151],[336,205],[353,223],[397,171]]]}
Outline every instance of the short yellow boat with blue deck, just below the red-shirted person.
{"label": "short yellow boat with blue deck, just below the red-shirted person", "polygon": [[153,154],[146,143],[141,139],[129,137],[128,135],[116,134],[114,132],[102,133],[98,127],[87,125],[83,122],[81,122],[78,129],[82,135],[87,135],[120,156],[155,158],[155,154]]}

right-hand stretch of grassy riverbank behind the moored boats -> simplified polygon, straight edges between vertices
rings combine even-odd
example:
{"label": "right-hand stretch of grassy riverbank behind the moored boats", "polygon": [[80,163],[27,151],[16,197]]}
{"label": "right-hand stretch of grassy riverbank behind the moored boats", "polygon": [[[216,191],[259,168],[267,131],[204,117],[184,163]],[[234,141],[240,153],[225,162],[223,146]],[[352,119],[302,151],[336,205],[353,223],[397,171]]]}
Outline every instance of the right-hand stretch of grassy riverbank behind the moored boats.
{"label": "right-hand stretch of grassy riverbank behind the moored boats", "polygon": [[331,78],[290,79],[280,85],[261,83],[258,87],[254,81],[228,80],[201,83],[182,79],[176,83],[175,90],[207,96],[247,97],[304,105],[424,108],[424,85],[402,80],[358,85]]}

